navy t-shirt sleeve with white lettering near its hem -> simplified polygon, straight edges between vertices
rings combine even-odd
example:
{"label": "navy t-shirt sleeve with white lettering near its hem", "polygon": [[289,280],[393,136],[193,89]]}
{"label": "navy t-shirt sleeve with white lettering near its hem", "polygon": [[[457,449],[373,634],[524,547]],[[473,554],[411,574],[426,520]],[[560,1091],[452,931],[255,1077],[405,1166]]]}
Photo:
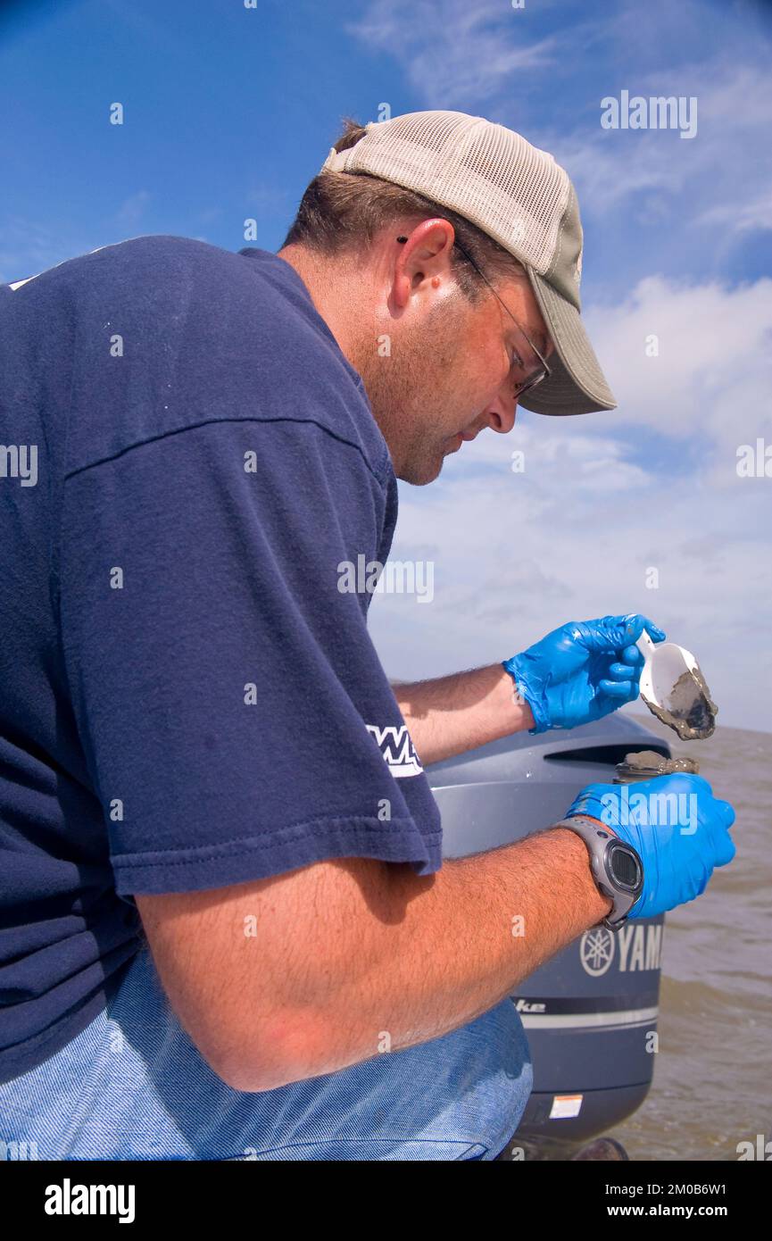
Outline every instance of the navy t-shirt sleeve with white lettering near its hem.
{"label": "navy t-shirt sleeve with white lettering near its hem", "polygon": [[357,446],[282,417],[67,478],[61,640],[118,892],[340,856],[439,866],[438,810],[349,588],[386,504]]}

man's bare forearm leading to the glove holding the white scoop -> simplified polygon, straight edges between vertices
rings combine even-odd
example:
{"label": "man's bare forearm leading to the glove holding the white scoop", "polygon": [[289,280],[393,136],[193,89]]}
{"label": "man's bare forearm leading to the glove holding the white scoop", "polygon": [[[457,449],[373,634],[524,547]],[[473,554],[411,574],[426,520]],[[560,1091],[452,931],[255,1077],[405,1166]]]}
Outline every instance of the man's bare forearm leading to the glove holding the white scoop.
{"label": "man's bare forearm leading to the glove holding the white scoop", "polygon": [[527,704],[514,700],[500,664],[431,681],[392,685],[422,763],[436,763],[488,741],[534,727]]}

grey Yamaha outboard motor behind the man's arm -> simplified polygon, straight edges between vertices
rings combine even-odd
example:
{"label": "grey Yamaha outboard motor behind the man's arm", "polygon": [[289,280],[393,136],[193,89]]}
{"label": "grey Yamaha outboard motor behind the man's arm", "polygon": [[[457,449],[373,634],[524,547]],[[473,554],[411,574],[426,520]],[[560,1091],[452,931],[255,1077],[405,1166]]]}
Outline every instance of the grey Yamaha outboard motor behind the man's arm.
{"label": "grey Yamaha outboard motor behind the man's arm", "polygon": [[[443,853],[511,844],[563,818],[585,784],[611,783],[633,751],[670,751],[629,716],[539,736],[518,733],[434,763]],[[653,1075],[664,918],[586,931],[511,997],[534,1061],[524,1138],[583,1140],[640,1106]]]}

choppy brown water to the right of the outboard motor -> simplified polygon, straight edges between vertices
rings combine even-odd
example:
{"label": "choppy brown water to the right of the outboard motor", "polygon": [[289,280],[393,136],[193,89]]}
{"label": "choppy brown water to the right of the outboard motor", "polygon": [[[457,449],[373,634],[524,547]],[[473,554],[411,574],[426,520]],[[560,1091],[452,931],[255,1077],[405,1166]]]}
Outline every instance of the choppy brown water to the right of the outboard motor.
{"label": "choppy brown water to the right of the outboard motor", "polygon": [[719,722],[681,742],[639,719],[732,803],[737,854],[665,920],[654,1082],[611,1136],[631,1159],[736,1160],[738,1143],[772,1142],[772,733]]}

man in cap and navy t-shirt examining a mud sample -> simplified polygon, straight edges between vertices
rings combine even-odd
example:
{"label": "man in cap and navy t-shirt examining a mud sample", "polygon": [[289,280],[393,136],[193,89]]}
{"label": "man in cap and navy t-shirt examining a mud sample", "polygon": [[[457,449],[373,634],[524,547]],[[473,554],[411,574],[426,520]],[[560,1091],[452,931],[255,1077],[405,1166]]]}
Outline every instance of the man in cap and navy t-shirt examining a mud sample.
{"label": "man in cap and navy t-shirt examining a mud sample", "polygon": [[552,158],[434,112],[349,124],[278,256],[138,238],[0,290],[4,1140],[493,1159],[532,1080],[506,997],[731,859],[684,777],[696,831],[593,786],[441,866],[422,762],[633,700],[664,634],[567,624],[397,700],[340,588],[396,477],[519,401],[613,408],[580,271]]}

